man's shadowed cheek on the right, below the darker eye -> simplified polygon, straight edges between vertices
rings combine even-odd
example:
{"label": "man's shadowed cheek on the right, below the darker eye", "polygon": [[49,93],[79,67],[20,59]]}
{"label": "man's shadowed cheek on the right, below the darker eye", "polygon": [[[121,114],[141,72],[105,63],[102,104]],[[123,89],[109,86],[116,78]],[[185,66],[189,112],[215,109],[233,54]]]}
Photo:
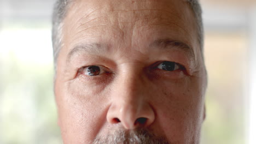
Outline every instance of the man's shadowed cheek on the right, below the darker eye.
{"label": "man's shadowed cheek on the right, below the darker eye", "polygon": [[172,141],[190,143],[199,135],[202,122],[203,97],[201,82],[193,77],[175,82],[159,83],[155,100],[158,123]]}

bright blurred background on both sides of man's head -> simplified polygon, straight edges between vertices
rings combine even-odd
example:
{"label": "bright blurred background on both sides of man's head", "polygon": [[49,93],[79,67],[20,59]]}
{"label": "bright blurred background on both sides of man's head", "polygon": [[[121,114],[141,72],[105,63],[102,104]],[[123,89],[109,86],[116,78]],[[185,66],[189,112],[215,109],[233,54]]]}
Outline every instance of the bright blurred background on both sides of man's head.
{"label": "bright blurred background on both sides of man's head", "polygon": [[[61,142],[53,94],[53,0],[0,0],[0,143]],[[201,0],[208,69],[202,144],[255,144],[256,4]]]}

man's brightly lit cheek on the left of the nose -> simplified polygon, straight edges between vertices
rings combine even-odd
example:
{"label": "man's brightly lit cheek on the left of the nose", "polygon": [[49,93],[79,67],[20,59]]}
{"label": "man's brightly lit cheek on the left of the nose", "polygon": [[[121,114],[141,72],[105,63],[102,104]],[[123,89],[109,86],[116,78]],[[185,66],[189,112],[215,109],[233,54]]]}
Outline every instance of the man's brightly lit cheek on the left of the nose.
{"label": "man's brightly lit cheek on the left of the nose", "polygon": [[55,94],[63,141],[90,143],[106,121],[107,103],[102,99],[103,93],[75,82],[68,82],[59,89],[67,89],[57,90]]}

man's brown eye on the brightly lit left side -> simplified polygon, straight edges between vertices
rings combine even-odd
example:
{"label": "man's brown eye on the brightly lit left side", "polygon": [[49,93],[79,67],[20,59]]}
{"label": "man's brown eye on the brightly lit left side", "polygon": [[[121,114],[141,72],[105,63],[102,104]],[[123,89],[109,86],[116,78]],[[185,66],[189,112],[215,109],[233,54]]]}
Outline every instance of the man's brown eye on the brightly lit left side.
{"label": "man's brown eye on the brightly lit left side", "polygon": [[103,68],[101,68],[100,66],[97,66],[97,65],[91,65],[91,66],[85,67],[81,70],[81,73],[83,73],[84,75],[89,75],[89,76],[100,75],[104,72],[105,71],[103,70]]}

